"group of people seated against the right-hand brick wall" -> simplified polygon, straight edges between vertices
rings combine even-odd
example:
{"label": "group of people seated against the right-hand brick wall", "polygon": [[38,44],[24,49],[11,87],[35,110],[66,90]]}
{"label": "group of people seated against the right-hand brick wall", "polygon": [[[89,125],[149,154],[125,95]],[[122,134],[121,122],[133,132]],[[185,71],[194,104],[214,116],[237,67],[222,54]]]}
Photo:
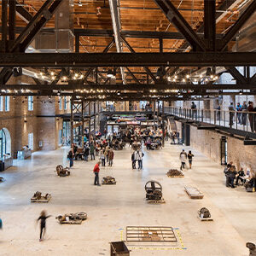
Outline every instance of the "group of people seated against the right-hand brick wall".
{"label": "group of people seated against the right-hand brick wall", "polygon": [[256,189],[256,174],[250,173],[249,170],[245,173],[242,167],[240,171],[236,172],[236,166],[233,165],[232,161],[225,166],[224,175],[226,177],[226,187],[234,189],[240,181],[247,191],[253,192]]}

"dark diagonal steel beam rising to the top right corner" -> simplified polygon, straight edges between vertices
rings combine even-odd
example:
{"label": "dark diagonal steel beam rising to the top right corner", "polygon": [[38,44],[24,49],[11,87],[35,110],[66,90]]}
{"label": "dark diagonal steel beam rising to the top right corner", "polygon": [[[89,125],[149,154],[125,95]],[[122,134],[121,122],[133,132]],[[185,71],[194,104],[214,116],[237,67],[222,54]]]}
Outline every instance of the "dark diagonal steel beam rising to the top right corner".
{"label": "dark diagonal steel beam rising to the top right corner", "polygon": [[236,33],[239,32],[242,26],[245,25],[247,20],[253,15],[256,10],[256,1],[253,1],[243,14],[236,20],[236,23],[230,27],[230,30],[224,35],[222,44],[220,45],[219,50],[224,50],[230,41],[236,36]]}

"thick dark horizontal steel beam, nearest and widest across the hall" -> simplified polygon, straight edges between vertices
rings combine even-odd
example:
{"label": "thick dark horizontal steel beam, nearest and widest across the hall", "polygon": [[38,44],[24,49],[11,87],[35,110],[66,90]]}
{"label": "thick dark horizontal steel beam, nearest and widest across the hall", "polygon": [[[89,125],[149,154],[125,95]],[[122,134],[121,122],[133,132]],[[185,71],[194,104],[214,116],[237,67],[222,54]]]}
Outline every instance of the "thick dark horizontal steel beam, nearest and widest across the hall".
{"label": "thick dark horizontal steel beam, nearest and widest across the hall", "polygon": [[0,67],[234,67],[256,66],[256,52],[3,53]]}

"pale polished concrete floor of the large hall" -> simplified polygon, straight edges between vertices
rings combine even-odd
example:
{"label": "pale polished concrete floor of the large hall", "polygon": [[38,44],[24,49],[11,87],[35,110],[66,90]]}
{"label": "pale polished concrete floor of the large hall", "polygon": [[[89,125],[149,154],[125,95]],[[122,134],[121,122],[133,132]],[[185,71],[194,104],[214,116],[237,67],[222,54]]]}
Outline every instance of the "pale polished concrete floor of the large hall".
{"label": "pale polished concrete floor of the large hall", "polygon": [[[185,171],[184,178],[166,177],[168,169],[179,167],[181,148],[166,143],[159,151],[144,150],[143,172],[131,169],[131,148],[115,151],[113,167],[102,167],[100,177],[111,175],[117,184],[102,187],[92,185],[96,161],[76,161],[70,177],[57,177],[55,166],[67,164],[65,148],[16,161],[16,166],[0,174],[6,178],[0,184],[0,255],[110,255],[108,242],[125,239],[128,225],[178,229],[174,247],[130,245],[131,255],[248,255],[245,243],[256,242],[256,194],[241,187],[226,188],[223,167],[194,150],[193,169]],[[166,204],[144,201],[144,184],[149,179],[162,184]],[[195,185],[204,199],[189,199],[185,185]],[[50,193],[52,200],[31,204],[37,190]],[[213,222],[197,218],[201,207],[210,209]],[[45,240],[39,242],[36,219],[43,209],[53,217],[47,221]],[[55,220],[59,214],[80,211],[88,213],[81,225],[61,225]]]}

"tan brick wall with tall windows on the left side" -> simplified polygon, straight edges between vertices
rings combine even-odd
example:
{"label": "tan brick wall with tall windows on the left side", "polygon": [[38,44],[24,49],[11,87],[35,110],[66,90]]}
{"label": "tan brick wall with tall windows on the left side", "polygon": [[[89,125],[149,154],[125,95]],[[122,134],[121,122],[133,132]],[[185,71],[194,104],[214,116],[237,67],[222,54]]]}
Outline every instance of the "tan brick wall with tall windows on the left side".
{"label": "tan brick wall with tall windows on the left side", "polygon": [[[27,77],[11,78],[9,84],[34,84]],[[4,99],[5,100],[5,99]],[[3,104],[4,104],[3,100]],[[11,137],[11,152],[20,150],[28,144],[28,134],[33,133],[33,151],[51,150],[59,147],[59,130],[62,129],[62,119],[55,118],[55,114],[70,113],[70,102],[67,97],[67,110],[59,110],[59,97],[33,97],[33,110],[28,110],[28,97],[10,96],[9,111],[0,111],[0,129],[6,128]],[[4,105],[3,105],[4,106]],[[38,116],[44,117],[38,117]],[[43,147],[39,148],[39,141]]]}

